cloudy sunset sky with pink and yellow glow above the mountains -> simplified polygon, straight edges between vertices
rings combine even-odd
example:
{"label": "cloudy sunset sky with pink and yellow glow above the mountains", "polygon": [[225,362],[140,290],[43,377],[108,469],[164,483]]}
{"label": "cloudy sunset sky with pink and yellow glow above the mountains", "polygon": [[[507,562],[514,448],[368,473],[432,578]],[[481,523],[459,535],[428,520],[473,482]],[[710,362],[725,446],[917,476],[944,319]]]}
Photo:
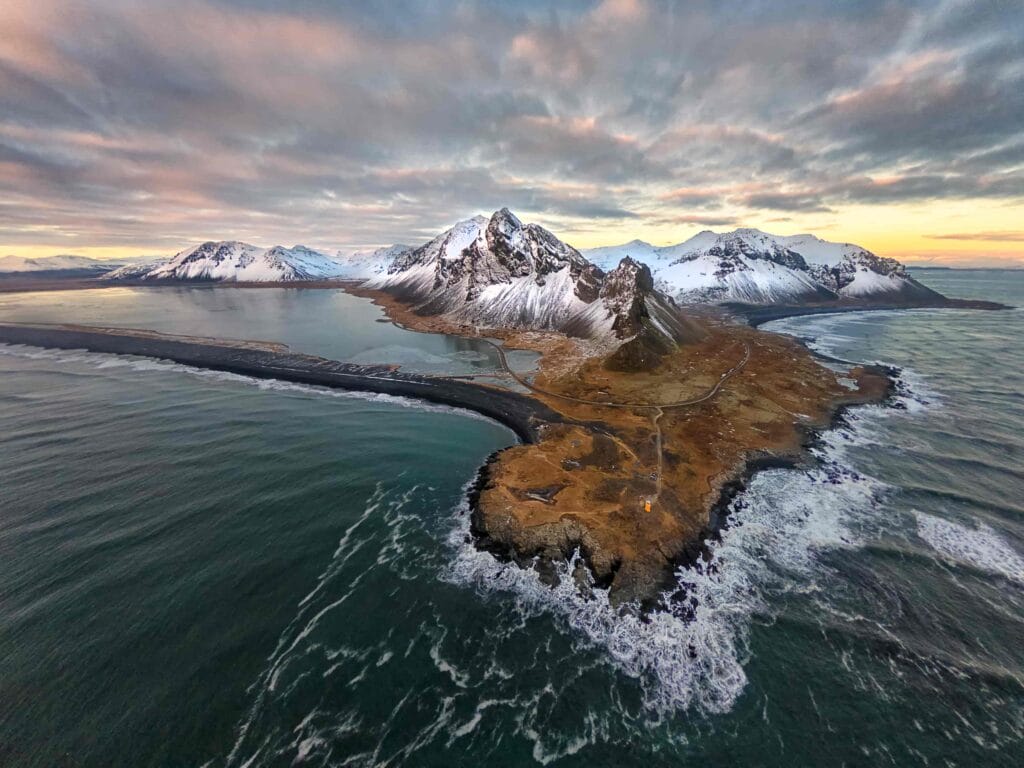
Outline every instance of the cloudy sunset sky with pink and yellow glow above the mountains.
{"label": "cloudy sunset sky with pink and yellow glow above the mountains", "polygon": [[0,255],[810,231],[1024,265],[1024,2],[0,3]]}

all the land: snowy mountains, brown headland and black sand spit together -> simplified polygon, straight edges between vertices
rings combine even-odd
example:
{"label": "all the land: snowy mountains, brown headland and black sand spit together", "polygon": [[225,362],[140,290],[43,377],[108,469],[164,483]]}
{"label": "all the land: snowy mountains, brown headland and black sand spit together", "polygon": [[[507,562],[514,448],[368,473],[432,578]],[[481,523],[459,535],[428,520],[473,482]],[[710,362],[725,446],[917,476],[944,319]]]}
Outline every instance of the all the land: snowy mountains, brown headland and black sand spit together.
{"label": "all the land: snowy mountains, brown headland and black sand spit together", "polygon": [[[148,355],[479,412],[511,427],[521,444],[480,470],[471,493],[477,545],[548,581],[579,552],[585,565],[572,578],[581,591],[607,589],[616,604],[650,609],[676,585],[676,569],[703,555],[752,472],[807,460],[808,443],[845,409],[882,401],[892,389],[891,372],[824,360],[760,323],[998,306],[946,299],[891,259],[849,244],[713,234],[651,253],[634,243],[593,254],[606,267],[617,259],[606,271],[502,209],[418,248],[381,249],[348,264],[301,246],[211,242],[102,280],[343,287],[408,329],[494,344],[506,385],[121,329],[7,324],[0,341]],[[640,251],[654,268],[626,251]],[[509,368],[505,349],[538,352],[536,374]]]}

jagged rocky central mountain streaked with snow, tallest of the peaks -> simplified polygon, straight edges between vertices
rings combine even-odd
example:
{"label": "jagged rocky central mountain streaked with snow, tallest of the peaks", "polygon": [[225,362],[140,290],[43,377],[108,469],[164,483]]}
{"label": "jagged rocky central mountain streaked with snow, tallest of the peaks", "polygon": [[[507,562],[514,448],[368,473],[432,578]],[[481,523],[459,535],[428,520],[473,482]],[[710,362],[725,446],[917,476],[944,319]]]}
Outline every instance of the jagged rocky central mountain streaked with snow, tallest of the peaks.
{"label": "jagged rocky central mountain streaked with snow, tallest of the peaks", "polygon": [[460,221],[426,245],[399,253],[369,280],[421,314],[484,328],[558,330],[625,339],[641,330],[674,339],[676,311],[653,290],[650,271],[624,260],[610,273],[507,208]]}

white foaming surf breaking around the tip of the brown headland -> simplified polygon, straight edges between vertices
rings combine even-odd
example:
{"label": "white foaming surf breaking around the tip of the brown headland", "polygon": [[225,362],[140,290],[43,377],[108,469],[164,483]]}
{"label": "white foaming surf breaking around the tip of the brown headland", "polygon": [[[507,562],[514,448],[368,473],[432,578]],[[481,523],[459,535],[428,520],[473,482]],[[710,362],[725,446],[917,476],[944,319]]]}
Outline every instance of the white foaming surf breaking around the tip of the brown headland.
{"label": "white foaming surf breaking around the tip of the brown headland", "polygon": [[[746,686],[752,620],[770,618],[773,596],[811,588],[827,568],[819,554],[859,547],[873,527],[889,486],[854,469],[850,450],[876,442],[881,420],[916,414],[935,399],[921,377],[902,370],[893,401],[848,413],[811,450],[813,465],[757,473],[731,503],[720,539],[707,542],[710,560],[677,571],[685,604],[671,610],[640,617],[612,606],[607,591],[585,598],[571,578],[579,556],[559,567],[555,588],[532,569],[499,562],[472,545],[465,507],[449,536],[456,556],[446,578],[555,615],[638,680],[655,713],[727,712]],[[673,604],[670,593],[665,598]]]}

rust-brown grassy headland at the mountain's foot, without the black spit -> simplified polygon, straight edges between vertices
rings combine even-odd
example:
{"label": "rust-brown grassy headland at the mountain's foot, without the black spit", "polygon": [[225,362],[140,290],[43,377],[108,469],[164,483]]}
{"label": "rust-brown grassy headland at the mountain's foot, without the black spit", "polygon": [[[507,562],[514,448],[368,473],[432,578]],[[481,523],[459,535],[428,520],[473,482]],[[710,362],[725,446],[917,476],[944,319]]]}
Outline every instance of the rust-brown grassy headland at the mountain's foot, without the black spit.
{"label": "rust-brown grassy headland at the mountain's foot, without the black spit", "polygon": [[[549,581],[579,551],[614,604],[635,600],[643,610],[656,607],[680,565],[703,555],[753,475],[799,466],[846,409],[893,388],[883,370],[849,364],[851,391],[799,340],[714,310],[699,312],[709,343],[683,345],[659,372],[621,376],[602,366],[607,349],[580,340],[457,325],[384,292],[351,292],[403,328],[500,337],[542,355],[531,392],[565,423],[538,444],[488,457],[468,493],[471,535],[478,548]],[[755,359],[720,387],[746,361],[743,347]]]}

